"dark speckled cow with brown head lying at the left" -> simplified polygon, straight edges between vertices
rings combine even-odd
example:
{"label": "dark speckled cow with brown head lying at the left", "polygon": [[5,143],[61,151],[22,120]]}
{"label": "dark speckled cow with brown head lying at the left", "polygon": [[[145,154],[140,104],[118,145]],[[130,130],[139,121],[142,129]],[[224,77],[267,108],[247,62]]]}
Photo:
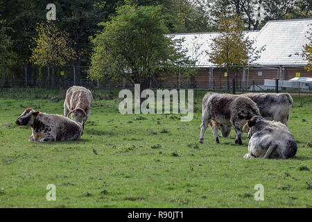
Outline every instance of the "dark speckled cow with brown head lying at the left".
{"label": "dark speckled cow with brown head lying at the left", "polygon": [[83,125],[66,117],[27,108],[17,118],[18,126],[31,126],[29,142],[76,140],[83,135]]}

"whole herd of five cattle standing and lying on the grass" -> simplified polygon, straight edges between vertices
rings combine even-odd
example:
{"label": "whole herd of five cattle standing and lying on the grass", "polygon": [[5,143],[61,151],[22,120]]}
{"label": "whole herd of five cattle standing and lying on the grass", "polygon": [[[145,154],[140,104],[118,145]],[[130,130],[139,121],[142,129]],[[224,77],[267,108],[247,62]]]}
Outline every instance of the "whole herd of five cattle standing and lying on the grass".
{"label": "whole herd of five cattle standing and lying on the grass", "polygon": [[[84,124],[90,115],[92,93],[89,89],[73,86],[67,90],[64,101],[64,116],[46,114],[27,108],[17,118],[18,126],[31,126],[29,141],[53,142],[80,139]],[[233,127],[235,143],[241,145],[243,132],[250,142],[245,158],[294,157],[297,144],[287,128],[293,99],[287,93],[250,93],[243,95],[207,92],[202,99],[202,124],[200,143],[209,126],[214,142],[227,137]],[[71,115],[71,119],[69,119]]]}

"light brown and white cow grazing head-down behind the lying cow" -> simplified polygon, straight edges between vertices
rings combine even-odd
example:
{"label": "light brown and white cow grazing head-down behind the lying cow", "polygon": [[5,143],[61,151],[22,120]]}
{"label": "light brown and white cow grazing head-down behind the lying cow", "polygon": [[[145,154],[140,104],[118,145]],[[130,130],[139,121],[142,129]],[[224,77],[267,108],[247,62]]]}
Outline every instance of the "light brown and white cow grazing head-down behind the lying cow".
{"label": "light brown and white cow grazing head-down behind the lying cow", "polygon": [[84,124],[90,116],[93,97],[89,89],[82,86],[72,86],[67,89],[64,101],[64,116]]}

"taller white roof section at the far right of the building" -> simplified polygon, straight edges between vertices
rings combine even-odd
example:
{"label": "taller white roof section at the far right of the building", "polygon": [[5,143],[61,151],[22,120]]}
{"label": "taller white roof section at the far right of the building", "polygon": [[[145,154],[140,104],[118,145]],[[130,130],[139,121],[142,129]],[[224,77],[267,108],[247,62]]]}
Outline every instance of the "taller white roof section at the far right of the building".
{"label": "taller white roof section at the far right of the building", "polygon": [[261,29],[254,46],[265,46],[260,65],[306,65],[306,60],[295,53],[301,53],[303,46],[309,43],[309,24],[312,19],[269,21]]}

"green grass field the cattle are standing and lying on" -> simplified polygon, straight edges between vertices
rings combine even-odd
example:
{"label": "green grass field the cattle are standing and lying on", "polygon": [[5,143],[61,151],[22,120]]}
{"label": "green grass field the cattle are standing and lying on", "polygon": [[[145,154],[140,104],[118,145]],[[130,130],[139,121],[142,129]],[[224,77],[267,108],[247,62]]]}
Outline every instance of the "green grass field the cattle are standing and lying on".
{"label": "green grass field the cattle are standing and lying on", "polygon": [[[234,130],[214,144],[207,129],[198,144],[200,102],[182,122],[180,114],[122,115],[116,94],[95,97],[81,139],[38,143],[15,119],[28,107],[62,114],[64,92],[0,92],[0,207],[312,207],[311,100],[291,110],[294,159],[245,160],[248,139],[237,146]],[[48,184],[55,201],[46,200]],[[257,184],[263,201],[254,200]]]}

